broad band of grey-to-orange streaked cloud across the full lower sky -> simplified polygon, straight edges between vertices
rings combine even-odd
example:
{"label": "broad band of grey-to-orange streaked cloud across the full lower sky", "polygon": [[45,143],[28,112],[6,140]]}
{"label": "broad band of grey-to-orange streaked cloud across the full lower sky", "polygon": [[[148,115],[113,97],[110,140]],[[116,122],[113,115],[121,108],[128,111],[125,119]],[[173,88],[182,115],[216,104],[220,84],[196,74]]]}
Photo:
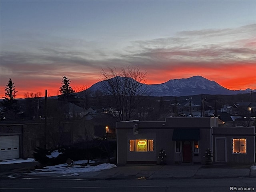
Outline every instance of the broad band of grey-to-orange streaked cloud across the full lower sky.
{"label": "broad band of grey-to-orange streaked cloud across the full lower sky", "polygon": [[[243,77],[248,80],[244,80],[248,86],[256,88],[253,81],[256,79],[256,24],[182,31],[172,37],[136,40],[119,51],[75,38],[61,38],[56,42],[40,45],[33,42],[34,50],[3,48],[1,90],[8,78],[15,77],[30,81],[31,88],[38,87],[38,82],[41,85],[38,88],[54,85],[55,92],[63,75],[68,76],[73,85],[92,85],[98,82],[101,68],[125,64],[139,65],[142,70],[147,70],[150,74],[148,83],[202,75],[232,89],[236,89]],[[241,73],[243,70],[246,73]],[[226,77],[223,72],[227,73]],[[42,81],[47,82],[46,86]],[[28,90],[27,85],[16,84]]]}

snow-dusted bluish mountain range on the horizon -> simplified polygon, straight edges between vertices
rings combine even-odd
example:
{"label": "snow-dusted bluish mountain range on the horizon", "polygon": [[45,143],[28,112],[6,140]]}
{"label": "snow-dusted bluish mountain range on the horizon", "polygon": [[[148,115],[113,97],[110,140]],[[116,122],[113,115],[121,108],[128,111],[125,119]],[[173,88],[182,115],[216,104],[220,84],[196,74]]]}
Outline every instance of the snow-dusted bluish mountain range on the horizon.
{"label": "snow-dusted bluish mountain range on the horizon", "polygon": [[[124,78],[124,77],[115,77]],[[135,80],[134,80],[135,81]],[[90,92],[102,90],[103,81],[92,85],[88,90]],[[142,88],[150,90],[148,96],[192,96],[198,94],[210,95],[235,95],[250,93],[251,89],[230,90],[224,88],[215,81],[210,81],[202,76],[193,76],[190,78],[173,79],[162,84],[142,84]]]}

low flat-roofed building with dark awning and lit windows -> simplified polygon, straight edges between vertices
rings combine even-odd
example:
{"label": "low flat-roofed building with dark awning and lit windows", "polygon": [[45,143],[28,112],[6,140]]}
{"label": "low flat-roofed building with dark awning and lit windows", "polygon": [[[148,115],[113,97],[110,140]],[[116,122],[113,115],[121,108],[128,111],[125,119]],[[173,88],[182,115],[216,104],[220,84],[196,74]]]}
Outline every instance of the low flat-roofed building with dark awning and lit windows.
{"label": "low flat-roofed building with dark awning and lit windows", "polygon": [[117,163],[205,163],[206,149],[213,162],[254,163],[255,127],[220,127],[217,117],[166,118],[165,121],[117,122]]}

